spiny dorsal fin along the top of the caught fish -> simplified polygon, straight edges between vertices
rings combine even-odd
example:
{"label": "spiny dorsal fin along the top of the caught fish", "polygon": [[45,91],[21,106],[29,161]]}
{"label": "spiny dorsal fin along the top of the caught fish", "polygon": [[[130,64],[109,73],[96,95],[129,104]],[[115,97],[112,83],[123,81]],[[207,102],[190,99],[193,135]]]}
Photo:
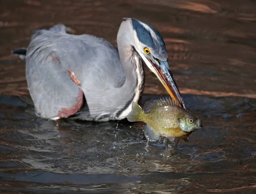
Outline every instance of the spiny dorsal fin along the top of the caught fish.
{"label": "spiny dorsal fin along the top of the caught fish", "polygon": [[179,106],[179,103],[172,98],[160,98],[157,100],[151,100],[145,103],[143,110],[145,113],[149,113],[152,109],[156,109],[163,106]]}

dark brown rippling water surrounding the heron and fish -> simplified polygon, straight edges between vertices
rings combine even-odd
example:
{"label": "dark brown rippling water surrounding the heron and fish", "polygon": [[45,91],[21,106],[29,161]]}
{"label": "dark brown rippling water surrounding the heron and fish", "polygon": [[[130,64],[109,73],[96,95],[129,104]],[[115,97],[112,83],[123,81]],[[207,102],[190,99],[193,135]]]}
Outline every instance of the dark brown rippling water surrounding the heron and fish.
{"label": "dark brown rippling water surrounding the heron and fish", "polygon": [[[0,192],[255,193],[256,2],[0,0]],[[24,62],[33,30],[62,22],[116,45],[122,17],[154,26],[188,109],[203,129],[166,157],[143,123],[37,118]],[[143,101],[166,96],[145,68]],[[26,100],[24,100],[26,99]]]}

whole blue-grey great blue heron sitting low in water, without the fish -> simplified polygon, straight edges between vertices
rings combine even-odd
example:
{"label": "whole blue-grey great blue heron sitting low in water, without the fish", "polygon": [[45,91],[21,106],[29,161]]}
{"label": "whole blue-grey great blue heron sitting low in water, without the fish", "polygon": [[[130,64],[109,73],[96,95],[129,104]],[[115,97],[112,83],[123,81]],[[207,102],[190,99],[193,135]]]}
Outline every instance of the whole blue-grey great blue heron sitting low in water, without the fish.
{"label": "whole blue-grey great blue heron sitting low in water, without the fish", "polygon": [[74,115],[87,121],[121,120],[144,90],[143,63],[172,98],[185,107],[168,65],[165,43],[150,25],[124,18],[117,49],[103,38],[67,34],[59,24],[37,30],[27,49],[26,80],[36,115],[57,120]]}

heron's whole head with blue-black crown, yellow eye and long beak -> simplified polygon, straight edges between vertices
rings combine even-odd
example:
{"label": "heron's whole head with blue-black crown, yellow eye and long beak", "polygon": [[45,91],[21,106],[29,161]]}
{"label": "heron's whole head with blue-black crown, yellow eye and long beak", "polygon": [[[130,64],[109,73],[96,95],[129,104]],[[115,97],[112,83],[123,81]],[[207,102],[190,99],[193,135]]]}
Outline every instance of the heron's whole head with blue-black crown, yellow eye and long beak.
{"label": "heron's whole head with blue-black crown, yellow eye and long beak", "polygon": [[144,22],[131,18],[124,18],[124,22],[131,25],[135,51],[157,76],[170,96],[177,100],[181,107],[186,108],[168,64],[163,38],[153,27]]}

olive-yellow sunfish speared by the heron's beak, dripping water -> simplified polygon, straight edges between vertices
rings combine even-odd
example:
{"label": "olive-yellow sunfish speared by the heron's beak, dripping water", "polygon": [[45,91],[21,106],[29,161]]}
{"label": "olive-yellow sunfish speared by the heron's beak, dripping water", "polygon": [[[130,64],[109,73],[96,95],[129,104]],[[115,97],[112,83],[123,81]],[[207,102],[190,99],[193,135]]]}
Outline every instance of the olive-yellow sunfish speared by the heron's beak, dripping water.
{"label": "olive-yellow sunfish speared by the heron's beak, dripping water", "polygon": [[[168,155],[176,152],[178,142],[183,139],[188,142],[189,135],[195,129],[201,129],[203,124],[200,119],[179,106],[172,98],[160,98],[151,100],[140,107],[137,102],[132,102],[131,112],[127,116],[130,122],[143,121],[146,125],[144,135],[147,139],[145,149],[148,151],[148,143],[164,138],[164,146]],[[172,153],[169,151],[169,143],[175,142]]]}

